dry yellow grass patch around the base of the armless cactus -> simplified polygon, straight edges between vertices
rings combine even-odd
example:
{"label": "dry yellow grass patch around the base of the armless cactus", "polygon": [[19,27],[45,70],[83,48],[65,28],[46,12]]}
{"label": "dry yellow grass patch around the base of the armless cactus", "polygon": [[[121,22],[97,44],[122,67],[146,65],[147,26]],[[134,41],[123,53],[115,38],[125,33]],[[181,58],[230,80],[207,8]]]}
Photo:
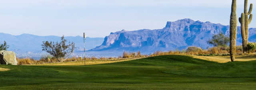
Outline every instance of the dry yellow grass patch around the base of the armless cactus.
{"label": "dry yellow grass patch around the base of the armless cactus", "polygon": [[[202,60],[208,60],[213,62],[219,62],[219,63],[226,63],[230,62],[230,56],[197,56],[197,55],[186,55],[193,58],[198,58]],[[236,56],[235,61],[251,61],[256,60],[256,54],[249,54],[249,55],[238,55]]]}

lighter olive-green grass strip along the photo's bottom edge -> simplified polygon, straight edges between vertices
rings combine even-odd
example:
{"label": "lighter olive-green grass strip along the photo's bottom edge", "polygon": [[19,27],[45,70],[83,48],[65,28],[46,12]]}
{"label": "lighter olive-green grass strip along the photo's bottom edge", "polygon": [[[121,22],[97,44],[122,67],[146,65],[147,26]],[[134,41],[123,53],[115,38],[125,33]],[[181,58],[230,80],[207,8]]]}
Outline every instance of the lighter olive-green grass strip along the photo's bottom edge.
{"label": "lighter olive-green grass strip along the photo's bottom edge", "polygon": [[0,90],[253,90],[256,83],[102,84],[62,83],[1,87]]}

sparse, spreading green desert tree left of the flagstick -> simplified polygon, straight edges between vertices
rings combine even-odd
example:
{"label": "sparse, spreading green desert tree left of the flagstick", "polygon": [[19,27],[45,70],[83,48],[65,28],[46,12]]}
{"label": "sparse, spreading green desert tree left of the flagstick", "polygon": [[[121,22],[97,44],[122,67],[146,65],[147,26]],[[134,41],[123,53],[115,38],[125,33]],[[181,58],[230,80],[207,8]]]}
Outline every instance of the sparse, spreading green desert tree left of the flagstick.
{"label": "sparse, spreading green desert tree left of the flagstick", "polygon": [[74,52],[75,44],[74,42],[68,42],[64,39],[64,36],[61,37],[61,42],[42,42],[42,50],[48,52],[54,58],[57,58],[59,62],[62,61],[61,58],[64,58],[67,55],[70,55]]}

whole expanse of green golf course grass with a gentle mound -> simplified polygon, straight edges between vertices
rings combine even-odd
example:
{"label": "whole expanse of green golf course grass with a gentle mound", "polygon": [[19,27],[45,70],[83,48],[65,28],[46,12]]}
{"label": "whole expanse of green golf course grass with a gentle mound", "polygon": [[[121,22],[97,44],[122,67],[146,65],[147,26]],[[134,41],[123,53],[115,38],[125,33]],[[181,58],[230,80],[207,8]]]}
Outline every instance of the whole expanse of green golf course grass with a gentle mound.
{"label": "whole expanse of green golf course grass with a gentle mound", "polygon": [[0,65],[0,90],[256,90],[256,61],[157,56],[88,66]]}

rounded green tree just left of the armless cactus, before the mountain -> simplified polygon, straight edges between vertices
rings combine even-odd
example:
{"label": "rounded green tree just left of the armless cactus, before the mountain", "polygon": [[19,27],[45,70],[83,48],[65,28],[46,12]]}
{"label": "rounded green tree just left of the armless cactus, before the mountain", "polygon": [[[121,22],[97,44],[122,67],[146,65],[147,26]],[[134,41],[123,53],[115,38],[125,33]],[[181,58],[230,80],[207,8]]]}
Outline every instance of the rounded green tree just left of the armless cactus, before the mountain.
{"label": "rounded green tree just left of the armless cactus, before the mountain", "polygon": [[208,44],[211,44],[216,47],[218,47],[218,46],[226,47],[226,46],[228,46],[228,42],[229,42],[229,37],[225,36],[222,33],[212,36],[212,39],[207,41]]}

